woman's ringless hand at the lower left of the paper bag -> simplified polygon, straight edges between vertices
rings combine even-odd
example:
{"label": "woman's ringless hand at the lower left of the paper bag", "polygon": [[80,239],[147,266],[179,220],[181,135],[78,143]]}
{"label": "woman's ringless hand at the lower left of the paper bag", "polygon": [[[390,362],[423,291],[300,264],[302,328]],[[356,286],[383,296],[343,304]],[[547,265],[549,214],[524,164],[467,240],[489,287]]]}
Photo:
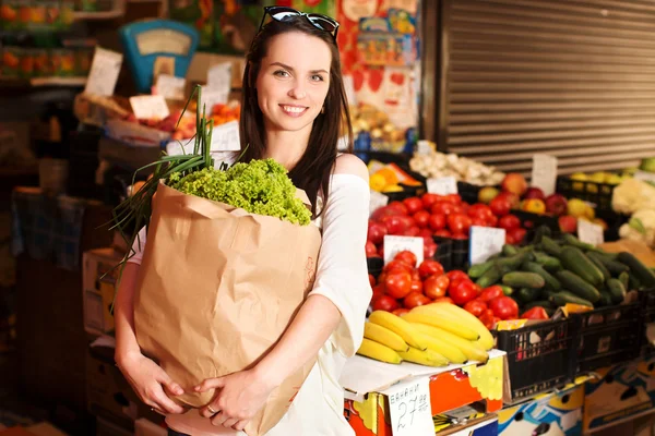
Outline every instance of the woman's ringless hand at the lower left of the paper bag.
{"label": "woman's ringless hand at the lower left of the paper bag", "polygon": [[168,397],[169,393],[182,395],[184,390],[155,362],[140,352],[121,356],[117,362],[139,398],[154,411],[160,414],[186,412],[184,408]]}

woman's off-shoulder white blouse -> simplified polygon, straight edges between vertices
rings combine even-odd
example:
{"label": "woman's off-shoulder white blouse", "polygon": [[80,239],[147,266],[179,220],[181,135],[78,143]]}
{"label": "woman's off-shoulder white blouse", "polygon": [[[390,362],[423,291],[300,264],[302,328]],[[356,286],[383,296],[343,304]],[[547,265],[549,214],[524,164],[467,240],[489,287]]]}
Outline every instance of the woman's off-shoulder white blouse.
{"label": "woman's off-shoulder white blouse", "polygon": [[[355,434],[344,419],[344,391],[338,378],[347,358],[355,354],[361,343],[366,311],[372,296],[365,253],[369,197],[369,186],[361,178],[354,174],[332,175],[325,210],[314,221],[322,228],[323,239],[310,295],[330,299],[340,310],[342,318],[319,351],[318,361],[289,410],[266,436]],[[143,247],[145,229],[140,232],[140,241]],[[128,262],[141,264],[142,250],[139,250],[139,245],[135,241],[135,254]],[[246,435],[243,432],[213,426],[209,419],[200,416],[198,410],[167,415],[166,423],[177,432],[193,436]]]}

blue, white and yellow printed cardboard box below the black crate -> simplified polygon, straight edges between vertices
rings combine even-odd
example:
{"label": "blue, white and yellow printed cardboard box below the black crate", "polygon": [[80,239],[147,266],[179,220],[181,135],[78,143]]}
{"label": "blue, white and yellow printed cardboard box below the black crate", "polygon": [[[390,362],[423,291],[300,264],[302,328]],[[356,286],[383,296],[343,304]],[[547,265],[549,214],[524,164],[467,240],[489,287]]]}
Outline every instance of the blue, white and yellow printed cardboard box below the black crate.
{"label": "blue, white and yellow printed cardboard box below the black crate", "polygon": [[583,405],[584,386],[570,384],[561,391],[545,393],[498,412],[498,434],[576,436],[582,434]]}

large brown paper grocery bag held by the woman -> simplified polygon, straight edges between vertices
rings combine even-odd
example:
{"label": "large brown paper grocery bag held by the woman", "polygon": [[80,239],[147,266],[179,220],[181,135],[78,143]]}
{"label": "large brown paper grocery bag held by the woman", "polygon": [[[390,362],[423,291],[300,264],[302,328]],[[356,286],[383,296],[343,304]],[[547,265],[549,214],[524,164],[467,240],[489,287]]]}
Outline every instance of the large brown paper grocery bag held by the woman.
{"label": "large brown paper grocery bag held by the woman", "polygon": [[[313,225],[248,214],[160,183],[134,295],[142,351],[187,392],[205,378],[252,367],[311,290],[320,245]],[[273,391],[248,435],[263,435],[282,419],[314,362]],[[200,408],[214,393],[176,400]]]}

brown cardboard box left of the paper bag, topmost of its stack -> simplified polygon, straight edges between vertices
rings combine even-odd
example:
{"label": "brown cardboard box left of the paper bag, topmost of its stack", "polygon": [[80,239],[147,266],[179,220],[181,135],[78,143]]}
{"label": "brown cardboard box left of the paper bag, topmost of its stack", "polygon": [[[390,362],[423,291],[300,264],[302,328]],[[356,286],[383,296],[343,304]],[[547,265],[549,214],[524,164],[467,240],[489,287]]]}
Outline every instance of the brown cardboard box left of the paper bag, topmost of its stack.
{"label": "brown cardboard box left of the paper bag, topmost of its stack", "polygon": [[112,249],[91,250],[83,255],[82,299],[84,330],[92,335],[114,331],[111,304],[122,255]]}

